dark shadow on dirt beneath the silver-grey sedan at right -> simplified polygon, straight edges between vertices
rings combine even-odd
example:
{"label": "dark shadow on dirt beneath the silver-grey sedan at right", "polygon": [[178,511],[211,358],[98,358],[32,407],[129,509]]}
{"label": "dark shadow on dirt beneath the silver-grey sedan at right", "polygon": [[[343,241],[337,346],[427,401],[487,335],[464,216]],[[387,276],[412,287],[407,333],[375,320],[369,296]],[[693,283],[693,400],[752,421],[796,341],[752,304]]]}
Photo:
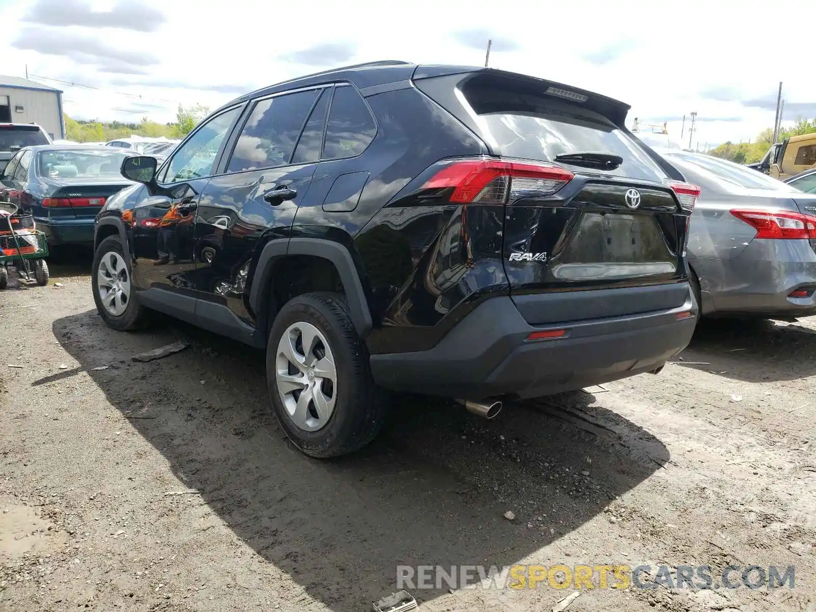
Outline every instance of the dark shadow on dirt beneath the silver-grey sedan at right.
{"label": "dark shadow on dirt beneath the silver-grey sedan at right", "polygon": [[763,319],[703,319],[677,365],[748,382],[816,374],[816,330]]}

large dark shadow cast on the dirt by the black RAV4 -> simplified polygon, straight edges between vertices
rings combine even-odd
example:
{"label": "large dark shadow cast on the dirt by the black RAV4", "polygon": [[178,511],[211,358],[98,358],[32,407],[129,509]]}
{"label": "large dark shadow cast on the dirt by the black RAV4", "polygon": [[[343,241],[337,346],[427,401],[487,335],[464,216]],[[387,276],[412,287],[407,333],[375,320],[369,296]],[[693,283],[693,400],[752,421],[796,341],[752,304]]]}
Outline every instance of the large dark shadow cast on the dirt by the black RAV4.
{"label": "large dark shadow cast on the dirt by the black RAV4", "polygon": [[[309,459],[267,413],[263,353],[175,322],[117,333],[95,312],[60,318],[53,331],[183,486],[339,612],[393,592],[397,565],[519,561],[669,460],[663,443],[586,392],[508,406],[490,421],[452,401],[395,396],[375,443]],[[179,338],[191,343],[183,353],[131,361]],[[563,561],[577,546],[561,539],[553,554]],[[443,587],[414,594],[428,600]]]}

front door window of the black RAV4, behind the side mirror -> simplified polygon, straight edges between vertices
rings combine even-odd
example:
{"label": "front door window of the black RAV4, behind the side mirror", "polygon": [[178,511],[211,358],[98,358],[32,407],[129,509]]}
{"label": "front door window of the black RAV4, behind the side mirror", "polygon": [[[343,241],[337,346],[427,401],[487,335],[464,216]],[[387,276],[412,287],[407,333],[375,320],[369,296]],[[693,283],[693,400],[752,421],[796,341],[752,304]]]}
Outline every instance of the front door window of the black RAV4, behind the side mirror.
{"label": "front door window of the black RAV4, behind the side mirror", "polygon": [[162,183],[176,183],[212,174],[212,165],[221,143],[237,118],[241,108],[236,107],[216,115],[175,150],[162,172]]}

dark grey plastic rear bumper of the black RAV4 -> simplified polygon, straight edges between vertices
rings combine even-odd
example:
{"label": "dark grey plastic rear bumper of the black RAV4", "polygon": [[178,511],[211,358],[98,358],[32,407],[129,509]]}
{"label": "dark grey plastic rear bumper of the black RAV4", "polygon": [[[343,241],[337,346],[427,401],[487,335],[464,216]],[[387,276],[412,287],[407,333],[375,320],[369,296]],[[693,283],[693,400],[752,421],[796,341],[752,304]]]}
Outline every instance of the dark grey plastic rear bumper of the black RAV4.
{"label": "dark grey plastic rear bumper of the black RAV4", "polygon": [[[372,355],[371,370],[385,388],[472,400],[540,397],[656,370],[694,333],[697,306],[683,286],[681,307],[544,326],[526,322],[510,297],[488,299],[436,347]],[[677,320],[687,311],[691,317]],[[556,329],[565,336],[526,341]]]}

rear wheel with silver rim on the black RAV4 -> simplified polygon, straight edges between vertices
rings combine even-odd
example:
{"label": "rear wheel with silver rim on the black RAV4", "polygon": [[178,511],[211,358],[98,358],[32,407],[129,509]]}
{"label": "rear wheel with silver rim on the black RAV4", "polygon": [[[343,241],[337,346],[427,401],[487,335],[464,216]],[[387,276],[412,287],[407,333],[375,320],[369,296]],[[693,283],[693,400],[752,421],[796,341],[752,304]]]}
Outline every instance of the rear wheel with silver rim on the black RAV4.
{"label": "rear wheel with silver rim on the black RAV4", "polygon": [[306,455],[346,455],[383,427],[385,394],[371,377],[368,351],[342,295],[290,299],[269,330],[266,356],[275,416]]}

